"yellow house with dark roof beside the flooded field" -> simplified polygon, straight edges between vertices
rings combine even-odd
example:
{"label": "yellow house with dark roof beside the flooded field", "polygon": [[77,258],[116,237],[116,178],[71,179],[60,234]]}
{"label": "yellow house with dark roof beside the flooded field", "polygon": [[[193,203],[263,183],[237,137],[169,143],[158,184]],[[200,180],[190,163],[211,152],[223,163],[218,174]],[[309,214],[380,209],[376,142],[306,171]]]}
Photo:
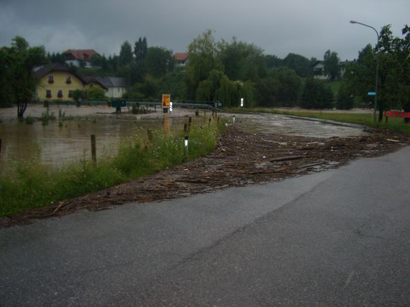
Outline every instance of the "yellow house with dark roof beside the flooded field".
{"label": "yellow house with dark roof beside the flooded field", "polygon": [[86,81],[65,65],[53,63],[36,71],[40,79],[38,100],[73,100],[73,90],[83,90]]}

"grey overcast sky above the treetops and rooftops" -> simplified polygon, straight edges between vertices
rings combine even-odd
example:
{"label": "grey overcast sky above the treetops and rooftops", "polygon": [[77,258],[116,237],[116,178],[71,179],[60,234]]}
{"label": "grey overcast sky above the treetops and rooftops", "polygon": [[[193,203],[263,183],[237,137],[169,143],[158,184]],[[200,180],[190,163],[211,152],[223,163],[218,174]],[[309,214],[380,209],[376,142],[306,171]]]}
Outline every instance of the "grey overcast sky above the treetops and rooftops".
{"label": "grey overcast sky above the treetops and rooftops", "polygon": [[121,44],[145,36],[149,46],[185,52],[212,29],[217,40],[236,37],[284,58],[290,52],[342,61],[376,42],[374,26],[391,24],[401,36],[410,24],[410,0],[0,0],[0,46],[14,36],[47,52],[96,49],[119,54]]}

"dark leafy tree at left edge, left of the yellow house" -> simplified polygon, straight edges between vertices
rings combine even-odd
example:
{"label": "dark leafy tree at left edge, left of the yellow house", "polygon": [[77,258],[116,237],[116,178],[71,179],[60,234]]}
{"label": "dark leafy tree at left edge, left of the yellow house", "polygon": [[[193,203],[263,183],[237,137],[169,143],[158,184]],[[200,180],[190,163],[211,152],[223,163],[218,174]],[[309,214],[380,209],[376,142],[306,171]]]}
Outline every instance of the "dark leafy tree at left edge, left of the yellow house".
{"label": "dark leafy tree at left edge, left of the yellow house", "polygon": [[47,63],[47,58],[44,47],[29,47],[21,36],[12,41],[11,47],[0,49],[0,80],[4,88],[1,95],[17,104],[17,117],[22,118],[39,83],[33,68]]}

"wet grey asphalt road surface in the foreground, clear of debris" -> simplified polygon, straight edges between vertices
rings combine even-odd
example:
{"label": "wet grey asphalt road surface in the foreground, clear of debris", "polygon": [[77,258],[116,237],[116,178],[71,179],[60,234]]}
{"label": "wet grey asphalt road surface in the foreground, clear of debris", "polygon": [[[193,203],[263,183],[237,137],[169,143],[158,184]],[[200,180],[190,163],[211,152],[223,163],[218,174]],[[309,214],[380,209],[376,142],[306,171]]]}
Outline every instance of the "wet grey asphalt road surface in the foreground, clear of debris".
{"label": "wet grey asphalt road surface in the foreground, clear of debris", "polygon": [[0,306],[410,306],[409,157],[0,229]]}

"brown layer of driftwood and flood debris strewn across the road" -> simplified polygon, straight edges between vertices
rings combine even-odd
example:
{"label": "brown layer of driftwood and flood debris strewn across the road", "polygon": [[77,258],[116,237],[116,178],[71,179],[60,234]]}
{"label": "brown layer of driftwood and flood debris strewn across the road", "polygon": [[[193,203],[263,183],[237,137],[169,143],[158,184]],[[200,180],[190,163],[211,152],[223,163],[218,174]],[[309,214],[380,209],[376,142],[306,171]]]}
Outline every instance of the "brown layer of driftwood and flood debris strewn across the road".
{"label": "brown layer of driftwood and flood debris strewn across the road", "polygon": [[376,157],[409,145],[408,134],[374,132],[355,138],[317,139],[278,134],[245,134],[231,126],[206,157],[148,178],[86,194],[56,205],[0,219],[1,227],[60,217],[77,210],[105,210],[137,201],[180,198],[227,187],[273,182],[326,171],[362,157]]}

